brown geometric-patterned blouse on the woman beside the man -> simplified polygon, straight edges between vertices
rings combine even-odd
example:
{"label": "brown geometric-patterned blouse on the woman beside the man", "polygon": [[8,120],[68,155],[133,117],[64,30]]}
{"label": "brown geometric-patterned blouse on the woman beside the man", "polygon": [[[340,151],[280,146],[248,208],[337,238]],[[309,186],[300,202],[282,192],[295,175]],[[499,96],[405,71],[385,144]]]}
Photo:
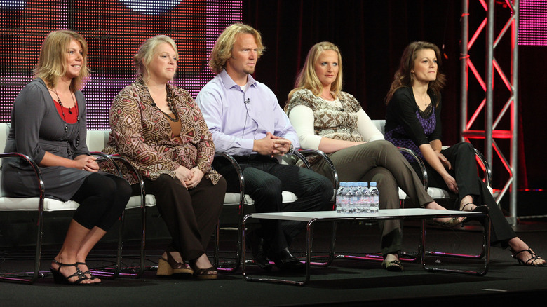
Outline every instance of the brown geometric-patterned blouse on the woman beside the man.
{"label": "brown geometric-patterned blouse on the woman beside the man", "polygon": [[[168,84],[175,111],[181,121],[182,144],[173,137],[170,123],[157,107],[142,79],[116,95],[110,109],[109,142],[105,153],[118,153],[144,177],[157,179],[162,174],[175,177],[180,166],[199,168],[205,178],[216,184],[220,174],[212,170],[215,145],[205,120],[191,95]],[[130,184],[136,179],[128,177]]]}

